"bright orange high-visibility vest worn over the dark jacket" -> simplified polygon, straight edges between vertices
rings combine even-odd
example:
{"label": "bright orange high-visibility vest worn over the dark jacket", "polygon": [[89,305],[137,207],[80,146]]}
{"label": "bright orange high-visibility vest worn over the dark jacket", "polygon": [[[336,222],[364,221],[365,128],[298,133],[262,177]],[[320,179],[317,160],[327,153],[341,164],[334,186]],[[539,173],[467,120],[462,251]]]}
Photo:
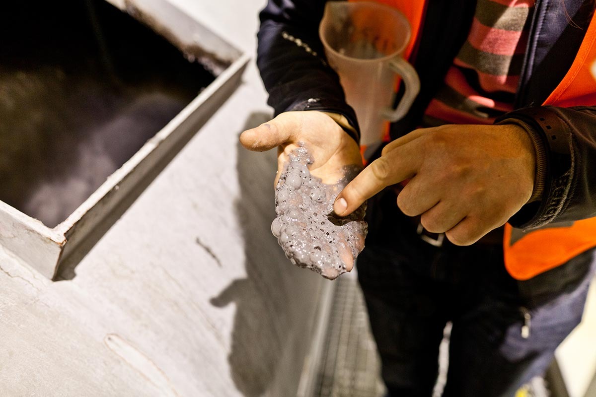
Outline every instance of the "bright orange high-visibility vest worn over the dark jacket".
{"label": "bright orange high-visibility vest worn over the dark jacket", "polygon": [[[426,1],[374,0],[401,11],[412,27],[412,39],[404,51],[408,59],[420,35]],[[571,107],[596,105],[596,18],[592,18],[575,61],[563,80],[548,96],[544,105]],[[596,160],[595,160],[596,161]],[[505,268],[517,280],[527,280],[564,264],[576,255],[596,246],[596,217],[564,226],[551,224],[543,229],[523,232],[505,224]]]}

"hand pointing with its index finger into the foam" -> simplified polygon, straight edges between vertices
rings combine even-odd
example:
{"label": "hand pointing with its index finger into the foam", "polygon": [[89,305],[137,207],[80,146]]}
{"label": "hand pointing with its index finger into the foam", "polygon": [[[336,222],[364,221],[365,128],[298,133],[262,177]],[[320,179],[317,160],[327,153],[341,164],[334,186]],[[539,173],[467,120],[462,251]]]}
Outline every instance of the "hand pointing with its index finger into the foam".
{"label": "hand pointing with its index finger into the foam", "polygon": [[398,207],[421,215],[431,233],[470,245],[520,210],[532,196],[535,151],[515,124],[418,129],[383,149],[337,196],[345,216],[384,187],[410,179]]}

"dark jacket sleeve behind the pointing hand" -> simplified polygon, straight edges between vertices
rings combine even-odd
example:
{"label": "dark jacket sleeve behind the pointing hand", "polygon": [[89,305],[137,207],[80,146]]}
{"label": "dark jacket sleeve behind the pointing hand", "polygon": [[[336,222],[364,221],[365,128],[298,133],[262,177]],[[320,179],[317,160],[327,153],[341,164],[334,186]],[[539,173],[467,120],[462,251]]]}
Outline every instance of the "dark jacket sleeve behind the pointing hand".
{"label": "dark jacket sleeve behind the pointing hand", "polygon": [[497,120],[511,121],[521,121],[538,136],[546,157],[536,182],[543,184],[541,199],[522,207],[511,225],[535,229],[595,217],[596,107],[523,108]]}

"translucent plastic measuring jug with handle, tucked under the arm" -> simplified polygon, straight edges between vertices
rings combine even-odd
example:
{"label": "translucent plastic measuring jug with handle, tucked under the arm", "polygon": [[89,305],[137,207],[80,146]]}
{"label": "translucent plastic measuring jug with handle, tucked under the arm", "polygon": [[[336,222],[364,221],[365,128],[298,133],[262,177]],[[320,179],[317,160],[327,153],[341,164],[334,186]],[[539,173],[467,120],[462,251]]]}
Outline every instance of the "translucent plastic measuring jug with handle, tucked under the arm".
{"label": "translucent plastic measuring jug with handle, tucked under the arm", "polygon": [[[402,118],[420,91],[418,74],[402,56],[411,36],[409,22],[387,5],[328,1],[319,36],[358,117],[367,157],[380,145],[384,123]],[[405,92],[393,108],[396,74]]]}

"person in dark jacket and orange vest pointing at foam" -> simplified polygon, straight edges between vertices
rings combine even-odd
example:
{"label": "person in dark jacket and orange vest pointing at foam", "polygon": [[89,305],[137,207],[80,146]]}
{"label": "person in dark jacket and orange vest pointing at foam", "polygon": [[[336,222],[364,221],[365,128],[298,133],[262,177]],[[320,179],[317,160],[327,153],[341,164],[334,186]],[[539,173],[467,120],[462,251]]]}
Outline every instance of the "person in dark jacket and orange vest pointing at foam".
{"label": "person in dark jacket and orange vest pointing at foam", "polygon": [[[334,202],[368,199],[358,277],[390,396],[513,396],[579,324],[596,246],[591,0],[384,0],[405,9],[421,90]],[[269,0],[259,67],[276,117],[243,132],[302,142],[311,173],[358,164],[359,129],[318,37],[324,1]],[[399,93],[398,93],[399,98]],[[278,170],[278,173],[280,171]]]}

